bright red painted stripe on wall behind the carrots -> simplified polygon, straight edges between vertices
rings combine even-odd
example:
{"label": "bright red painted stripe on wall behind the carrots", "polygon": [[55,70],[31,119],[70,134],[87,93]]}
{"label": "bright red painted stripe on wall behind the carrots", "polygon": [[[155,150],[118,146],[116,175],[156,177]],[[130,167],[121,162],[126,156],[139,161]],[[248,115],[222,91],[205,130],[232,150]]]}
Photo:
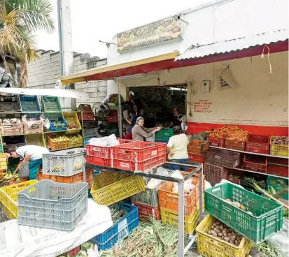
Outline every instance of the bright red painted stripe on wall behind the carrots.
{"label": "bright red painted stripe on wall behind the carrots", "polygon": [[[211,129],[220,128],[222,126],[232,124],[216,124],[216,123],[199,123],[199,122],[188,122],[187,134],[195,134],[202,131],[210,131]],[[234,124],[239,128],[249,131],[255,135],[287,135],[288,127],[284,126],[256,126],[256,125],[242,125]]]}

